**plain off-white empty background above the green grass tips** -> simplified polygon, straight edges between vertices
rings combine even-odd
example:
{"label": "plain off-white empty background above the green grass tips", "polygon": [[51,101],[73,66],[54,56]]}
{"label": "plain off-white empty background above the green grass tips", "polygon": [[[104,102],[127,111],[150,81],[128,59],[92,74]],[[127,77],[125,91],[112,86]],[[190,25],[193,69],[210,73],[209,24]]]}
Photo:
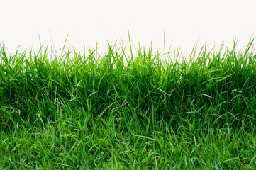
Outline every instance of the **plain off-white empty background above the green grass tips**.
{"label": "plain off-white empty background above the green grass tips", "polygon": [[148,50],[152,40],[153,53],[167,52],[172,45],[187,57],[198,40],[198,50],[204,44],[218,50],[223,41],[233,47],[236,38],[237,49],[245,50],[256,36],[255,0],[8,0],[0,6],[0,43],[10,52],[19,45],[39,50],[38,35],[44,45],[53,42],[62,50],[68,35],[65,49],[82,52],[85,45],[94,50],[98,42],[104,53],[107,40],[111,45],[118,40],[129,53],[129,30],[135,47],[140,43]]}

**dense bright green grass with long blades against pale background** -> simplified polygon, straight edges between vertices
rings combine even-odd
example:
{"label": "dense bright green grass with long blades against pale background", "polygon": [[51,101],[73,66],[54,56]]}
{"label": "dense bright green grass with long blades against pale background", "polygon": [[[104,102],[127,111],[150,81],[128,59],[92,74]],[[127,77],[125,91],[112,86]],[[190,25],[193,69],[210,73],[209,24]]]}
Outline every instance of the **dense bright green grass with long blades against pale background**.
{"label": "dense bright green grass with long blades against pale background", "polygon": [[0,169],[256,169],[252,42],[169,62],[1,46]]}

